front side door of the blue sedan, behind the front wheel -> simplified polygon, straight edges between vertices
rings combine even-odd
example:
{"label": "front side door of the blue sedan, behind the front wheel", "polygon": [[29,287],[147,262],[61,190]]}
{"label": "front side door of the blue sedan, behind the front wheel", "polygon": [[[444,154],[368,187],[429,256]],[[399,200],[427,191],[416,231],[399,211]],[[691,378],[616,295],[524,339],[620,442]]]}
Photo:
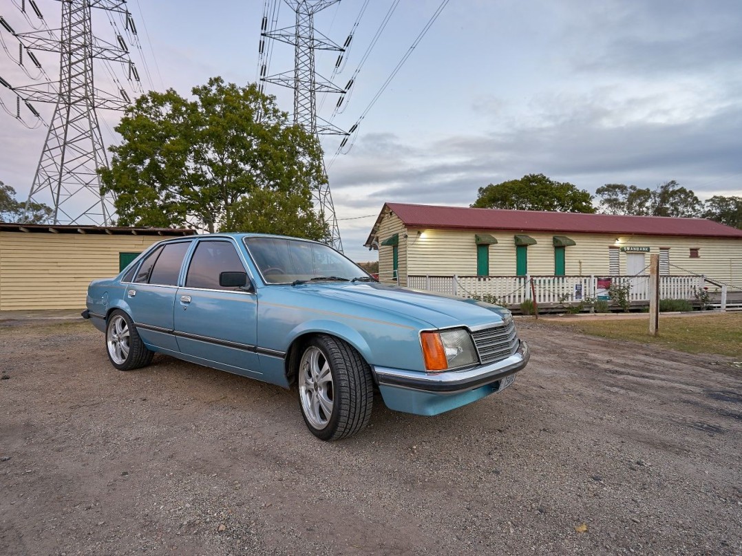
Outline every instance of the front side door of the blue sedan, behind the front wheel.
{"label": "front side door of the blue sedan, behind the front wheel", "polygon": [[229,238],[201,239],[188,263],[185,285],[177,291],[178,347],[195,363],[260,377],[257,297],[250,288],[221,286],[222,272],[245,272],[234,243]]}

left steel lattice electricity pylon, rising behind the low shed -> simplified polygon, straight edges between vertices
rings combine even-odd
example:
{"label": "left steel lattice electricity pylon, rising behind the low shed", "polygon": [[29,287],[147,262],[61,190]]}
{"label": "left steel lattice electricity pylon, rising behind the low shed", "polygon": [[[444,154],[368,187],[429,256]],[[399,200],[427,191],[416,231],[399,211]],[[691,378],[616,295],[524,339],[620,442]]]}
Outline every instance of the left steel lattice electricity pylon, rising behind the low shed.
{"label": "left steel lattice electricity pylon, rising behind the low shed", "polygon": [[[36,5],[33,6],[38,14]],[[108,12],[108,19],[116,30],[116,44],[93,35],[93,8]],[[128,79],[132,82],[139,82],[139,74],[112,14],[120,17],[128,36],[136,36],[137,30],[126,8],[126,0],[62,0],[62,26],[58,30],[13,32],[37,67],[40,66],[32,50],[59,53],[60,56],[59,82],[56,84],[45,82],[9,87],[34,113],[29,101],[55,105],[26,203],[28,210],[32,202],[42,202],[50,195],[54,224],[113,223],[113,199],[100,192],[96,173],[97,168],[108,165],[96,110],[122,110],[130,98],[110,65],[108,69],[119,87],[119,96],[105,93],[93,85],[93,59],[103,60],[106,64],[125,64]]]}

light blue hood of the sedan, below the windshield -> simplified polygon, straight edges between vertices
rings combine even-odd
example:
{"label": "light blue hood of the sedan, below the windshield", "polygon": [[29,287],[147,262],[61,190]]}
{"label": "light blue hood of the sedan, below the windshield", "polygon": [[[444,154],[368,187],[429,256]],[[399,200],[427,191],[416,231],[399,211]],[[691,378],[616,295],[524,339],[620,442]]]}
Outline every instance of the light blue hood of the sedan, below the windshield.
{"label": "light blue hood of the sedan, below the windshield", "polygon": [[293,286],[297,293],[352,303],[369,312],[398,314],[419,320],[430,328],[497,324],[510,315],[508,309],[461,297],[430,294],[375,282],[318,282]]}

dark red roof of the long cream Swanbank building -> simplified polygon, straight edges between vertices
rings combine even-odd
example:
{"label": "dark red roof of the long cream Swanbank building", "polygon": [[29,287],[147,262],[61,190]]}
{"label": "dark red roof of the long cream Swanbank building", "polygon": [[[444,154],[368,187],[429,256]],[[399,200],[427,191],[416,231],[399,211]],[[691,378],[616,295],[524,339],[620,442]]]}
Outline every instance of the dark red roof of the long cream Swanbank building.
{"label": "dark red roof of the long cream Swanbank building", "polygon": [[703,218],[505,211],[497,208],[407,205],[400,202],[387,202],[384,207],[393,211],[408,228],[742,238],[742,230]]}

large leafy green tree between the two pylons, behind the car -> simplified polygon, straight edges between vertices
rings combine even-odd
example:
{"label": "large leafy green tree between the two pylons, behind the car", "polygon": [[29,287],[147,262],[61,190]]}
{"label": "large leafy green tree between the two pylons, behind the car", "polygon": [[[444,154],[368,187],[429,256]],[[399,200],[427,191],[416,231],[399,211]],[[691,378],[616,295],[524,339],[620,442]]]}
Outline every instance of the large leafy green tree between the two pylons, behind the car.
{"label": "large leafy green tree between the two pylons, behind the car", "polygon": [[[192,93],[151,91],[116,126],[122,142],[99,174],[101,191],[116,193],[119,225],[316,237],[317,219],[304,210],[324,179],[316,138],[289,125],[255,84],[214,77]],[[266,212],[246,214],[258,209]]]}

